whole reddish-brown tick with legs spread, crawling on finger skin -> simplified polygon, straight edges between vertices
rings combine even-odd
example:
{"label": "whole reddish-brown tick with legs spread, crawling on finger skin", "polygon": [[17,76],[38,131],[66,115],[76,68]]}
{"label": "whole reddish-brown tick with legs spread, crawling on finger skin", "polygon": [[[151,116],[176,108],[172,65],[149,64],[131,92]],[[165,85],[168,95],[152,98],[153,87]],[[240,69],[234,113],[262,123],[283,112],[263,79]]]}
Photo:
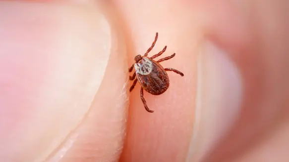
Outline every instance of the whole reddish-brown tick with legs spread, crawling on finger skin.
{"label": "whole reddish-brown tick with legs spread, crawling on finger skin", "polygon": [[[150,110],[147,106],[147,102],[144,99],[143,96],[143,90],[153,94],[153,95],[160,95],[163,94],[170,85],[169,76],[167,74],[167,71],[173,71],[176,74],[179,74],[183,77],[183,74],[175,70],[173,68],[163,68],[161,64],[159,64],[162,61],[169,60],[175,56],[175,53],[173,53],[171,56],[159,59],[158,61],[155,61],[154,58],[157,58],[161,56],[167,49],[167,46],[164,47],[162,51],[160,51],[158,54],[153,55],[152,57],[148,57],[148,53],[153,49],[153,47],[156,44],[156,41],[158,40],[158,33],[156,33],[155,40],[153,41],[151,47],[146,51],[146,53],[141,55],[136,55],[134,57],[135,63],[132,64],[132,66],[128,69],[129,72],[132,72],[133,68],[135,69],[135,72],[132,76],[129,76],[129,80],[133,81],[129,92],[132,91],[137,81],[140,83],[140,98],[143,102],[143,105],[149,113],[153,113],[153,110]],[[136,77],[136,78],[135,78]]]}

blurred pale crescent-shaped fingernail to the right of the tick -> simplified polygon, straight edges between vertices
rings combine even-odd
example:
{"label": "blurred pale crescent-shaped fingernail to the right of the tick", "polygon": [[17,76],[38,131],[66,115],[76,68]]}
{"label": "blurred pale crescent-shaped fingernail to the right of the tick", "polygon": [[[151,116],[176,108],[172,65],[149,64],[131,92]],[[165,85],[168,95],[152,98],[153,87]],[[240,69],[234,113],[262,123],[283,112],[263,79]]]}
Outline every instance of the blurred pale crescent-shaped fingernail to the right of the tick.
{"label": "blurred pale crescent-shaped fingernail to the right of the tick", "polygon": [[238,117],[241,80],[229,56],[206,41],[198,57],[196,120],[187,162],[201,162]]}

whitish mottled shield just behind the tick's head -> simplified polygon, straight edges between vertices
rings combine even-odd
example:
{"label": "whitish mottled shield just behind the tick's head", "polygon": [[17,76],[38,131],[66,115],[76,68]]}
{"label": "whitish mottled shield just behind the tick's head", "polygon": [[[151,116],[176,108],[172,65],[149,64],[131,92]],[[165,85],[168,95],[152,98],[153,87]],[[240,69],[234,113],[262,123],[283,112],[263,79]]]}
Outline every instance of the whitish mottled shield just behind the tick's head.
{"label": "whitish mottled shield just behind the tick's head", "polygon": [[153,62],[149,58],[143,57],[140,63],[134,64],[134,69],[140,75],[148,75],[153,71]]}

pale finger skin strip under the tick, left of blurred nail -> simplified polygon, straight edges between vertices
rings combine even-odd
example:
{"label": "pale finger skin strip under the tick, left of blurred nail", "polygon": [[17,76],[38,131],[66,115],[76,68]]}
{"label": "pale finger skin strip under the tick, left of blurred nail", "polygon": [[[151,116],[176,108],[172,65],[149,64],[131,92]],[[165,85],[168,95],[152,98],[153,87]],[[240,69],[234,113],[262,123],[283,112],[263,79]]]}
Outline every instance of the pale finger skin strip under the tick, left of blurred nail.
{"label": "pale finger skin strip under the tick, left of blurred nail", "polygon": [[[184,77],[168,72],[169,89],[158,96],[144,92],[148,113],[140,99],[140,85],[130,93],[127,140],[121,162],[182,162],[192,132],[195,107],[196,53],[199,32],[188,20],[194,17],[173,1],[118,1],[130,29],[133,46],[129,50],[129,65],[137,54],[144,54],[152,44],[156,32],[158,40],[148,56],[167,50],[160,58],[175,56],[161,63]],[[149,10],[149,12],[147,12]],[[181,18],[180,18],[181,17]],[[157,60],[160,59],[156,58]]]}

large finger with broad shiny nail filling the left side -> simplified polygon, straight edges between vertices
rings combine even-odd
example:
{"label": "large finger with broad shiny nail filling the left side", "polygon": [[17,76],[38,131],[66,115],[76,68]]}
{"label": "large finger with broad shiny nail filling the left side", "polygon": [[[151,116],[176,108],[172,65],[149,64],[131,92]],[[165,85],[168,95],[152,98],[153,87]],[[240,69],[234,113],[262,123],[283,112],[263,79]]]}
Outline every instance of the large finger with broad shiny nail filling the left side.
{"label": "large finger with broad shiny nail filling the left side", "polygon": [[[124,58],[119,49],[118,82],[109,89],[112,96],[122,95],[110,100],[111,105],[100,104],[98,96],[107,86],[102,83],[103,78],[107,80],[105,71],[113,62],[109,48],[113,34],[98,10],[91,5],[7,1],[0,2],[0,19],[1,160],[44,161],[58,153],[63,140],[83,120],[86,128],[76,131],[77,137],[67,138],[78,145],[78,141],[86,142],[82,140],[86,132],[99,133],[98,140],[108,147],[92,149],[91,155],[101,152],[97,158],[110,153],[114,157],[125,122],[126,98],[119,91],[125,83],[119,75]],[[113,109],[113,104],[118,107]],[[111,124],[91,121],[92,117]],[[110,130],[111,136],[99,132],[108,133],[104,130]],[[94,142],[86,143],[86,149],[101,145]],[[62,155],[67,152],[63,148],[69,150],[67,145],[62,147]]]}

